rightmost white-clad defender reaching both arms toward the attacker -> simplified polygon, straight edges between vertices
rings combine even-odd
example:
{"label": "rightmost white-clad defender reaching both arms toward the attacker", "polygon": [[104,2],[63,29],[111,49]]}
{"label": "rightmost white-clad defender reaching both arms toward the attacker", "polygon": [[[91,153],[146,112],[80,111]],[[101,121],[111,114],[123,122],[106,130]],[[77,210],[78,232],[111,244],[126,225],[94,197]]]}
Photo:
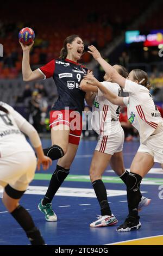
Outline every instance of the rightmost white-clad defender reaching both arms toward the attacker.
{"label": "rightmost white-clad defender reaching both arms toward the attacker", "polygon": [[92,75],[87,75],[91,84],[97,86],[104,96],[112,103],[120,106],[127,105],[128,119],[139,131],[140,148],[138,149],[127,176],[127,199],[129,215],[117,231],[136,230],[141,227],[138,215],[138,205],[141,200],[140,182],[153,167],[154,162],[163,163],[163,119],[156,108],[152,96],[149,93],[148,75],[145,71],[134,69],[128,79],[118,72],[101,57],[94,46],[89,46],[89,52],[108,72],[114,82],[129,93],[129,97],[123,98],[106,89]]}

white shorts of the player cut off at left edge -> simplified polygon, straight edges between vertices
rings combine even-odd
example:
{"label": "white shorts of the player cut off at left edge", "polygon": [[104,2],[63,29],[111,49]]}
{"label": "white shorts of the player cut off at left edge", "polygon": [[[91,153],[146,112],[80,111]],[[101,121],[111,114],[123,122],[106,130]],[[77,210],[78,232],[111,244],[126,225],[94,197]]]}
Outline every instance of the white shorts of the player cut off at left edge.
{"label": "white shorts of the player cut off at left edge", "polygon": [[34,178],[36,164],[34,151],[0,157],[0,185],[25,191]]}

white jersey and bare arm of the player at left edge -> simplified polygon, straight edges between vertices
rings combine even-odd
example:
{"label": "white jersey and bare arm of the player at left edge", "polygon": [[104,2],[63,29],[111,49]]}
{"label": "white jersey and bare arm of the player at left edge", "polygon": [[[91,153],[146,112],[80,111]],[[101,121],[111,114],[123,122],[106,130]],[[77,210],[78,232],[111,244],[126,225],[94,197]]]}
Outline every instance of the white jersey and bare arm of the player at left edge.
{"label": "white jersey and bare arm of the player at left edge", "polygon": [[[0,105],[8,110],[9,113],[0,111],[0,153],[1,157],[17,152],[32,152],[33,149],[26,141],[26,137],[23,135],[25,132],[28,136],[32,137],[34,127],[30,125],[26,119],[17,113],[14,108],[4,102],[0,102]],[[36,145],[41,142],[37,141]]]}

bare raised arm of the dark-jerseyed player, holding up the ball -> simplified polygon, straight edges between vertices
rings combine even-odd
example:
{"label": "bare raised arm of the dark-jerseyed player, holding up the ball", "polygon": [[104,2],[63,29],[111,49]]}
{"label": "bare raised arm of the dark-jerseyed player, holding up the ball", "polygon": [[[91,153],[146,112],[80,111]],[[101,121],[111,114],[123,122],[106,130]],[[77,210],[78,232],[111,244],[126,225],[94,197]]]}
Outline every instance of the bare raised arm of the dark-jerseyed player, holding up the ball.
{"label": "bare raised arm of the dark-jerseyed player, holding up the ball", "polygon": [[20,42],[20,45],[23,50],[23,59],[22,59],[22,75],[23,81],[30,82],[36,81],[44,78],[44,75],[39,72],[39,70],[34,70],[30,68],[30,61],[29,61],[29,52],[34,44],[34,41],[30,45],[24,45]]}

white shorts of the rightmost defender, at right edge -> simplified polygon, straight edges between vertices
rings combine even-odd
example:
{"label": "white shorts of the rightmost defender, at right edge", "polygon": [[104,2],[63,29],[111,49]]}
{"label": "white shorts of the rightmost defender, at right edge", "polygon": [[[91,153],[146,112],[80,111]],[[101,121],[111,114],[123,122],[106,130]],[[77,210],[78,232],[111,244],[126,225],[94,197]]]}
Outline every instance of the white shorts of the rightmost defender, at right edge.
{"label": "white shorts of the rightmost defender, at right edge", "polygon": [[149,136],[147,141],[140,144],[137,152],[152,155],[154,162],[163,163],[163,131]]}

